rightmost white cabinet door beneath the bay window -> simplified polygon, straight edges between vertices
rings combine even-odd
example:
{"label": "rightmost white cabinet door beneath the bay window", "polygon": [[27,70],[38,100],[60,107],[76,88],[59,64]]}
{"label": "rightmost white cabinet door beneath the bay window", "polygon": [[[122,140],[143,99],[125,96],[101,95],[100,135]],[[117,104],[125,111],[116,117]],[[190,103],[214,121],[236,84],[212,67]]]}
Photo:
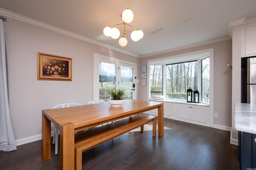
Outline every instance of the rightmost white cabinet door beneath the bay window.
{"label": "rightmost white cabinet door beneath the bay window", "polygon": [[191,120],[206,123],[206,117],[205,107],[192,106]]}

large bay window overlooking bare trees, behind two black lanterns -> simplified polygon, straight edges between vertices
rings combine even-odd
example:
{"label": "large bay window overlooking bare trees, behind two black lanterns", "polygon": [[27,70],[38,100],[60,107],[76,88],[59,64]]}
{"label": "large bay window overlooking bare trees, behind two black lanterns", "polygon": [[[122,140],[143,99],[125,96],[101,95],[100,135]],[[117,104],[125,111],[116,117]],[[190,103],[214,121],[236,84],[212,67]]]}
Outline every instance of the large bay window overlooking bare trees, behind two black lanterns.
{"label": "large bay window overlooking bare trees, behind two black lanterns", "polygon": [[200,91],[200,102],[210,104],[209,56],[210,53],[213,56],[213,52],[211,50],[200,52],[148,61],[150,64],[149,98],[152,98],[152,94],[157,94],[163,95],[167,100],[186,101],[187,89],[192,88]]}

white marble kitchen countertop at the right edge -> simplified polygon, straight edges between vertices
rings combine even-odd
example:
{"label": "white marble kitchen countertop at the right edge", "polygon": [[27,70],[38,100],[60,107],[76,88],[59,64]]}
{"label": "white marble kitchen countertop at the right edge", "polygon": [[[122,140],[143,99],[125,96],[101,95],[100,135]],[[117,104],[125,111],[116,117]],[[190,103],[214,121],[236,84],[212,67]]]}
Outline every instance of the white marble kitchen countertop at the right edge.
{"label": "white marble kitchen countertop at the right edge", "polygon": [[256,104],[235,103],[235,129],[256,134]]}

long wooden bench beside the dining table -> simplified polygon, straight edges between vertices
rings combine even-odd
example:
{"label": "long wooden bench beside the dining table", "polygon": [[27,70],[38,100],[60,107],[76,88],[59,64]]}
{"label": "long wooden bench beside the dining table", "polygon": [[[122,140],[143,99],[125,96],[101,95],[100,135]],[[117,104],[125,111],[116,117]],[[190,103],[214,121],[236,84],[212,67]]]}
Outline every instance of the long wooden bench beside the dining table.
{"label": "long wooden bench beside the dining table", "polygon": [[89,150],[114,137],[122,135],[132,129],[141,127],[144,132],[144,124],[153,121],[153,137],[156,137],[156,116],[138,114],[101,127],[90,129],[75,135],[75,168],[82,170],[82,152]]}

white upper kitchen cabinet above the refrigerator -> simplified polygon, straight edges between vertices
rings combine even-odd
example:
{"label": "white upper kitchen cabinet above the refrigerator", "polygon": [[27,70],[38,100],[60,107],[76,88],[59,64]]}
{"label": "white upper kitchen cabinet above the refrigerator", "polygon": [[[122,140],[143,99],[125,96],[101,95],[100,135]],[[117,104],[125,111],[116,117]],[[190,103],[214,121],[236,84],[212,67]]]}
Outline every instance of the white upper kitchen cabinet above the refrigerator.
{"label": "white upper kitchen cabinet above the refrigerator", "polygon": [[242,26],[242,57],[256,56],[256,19]]}

